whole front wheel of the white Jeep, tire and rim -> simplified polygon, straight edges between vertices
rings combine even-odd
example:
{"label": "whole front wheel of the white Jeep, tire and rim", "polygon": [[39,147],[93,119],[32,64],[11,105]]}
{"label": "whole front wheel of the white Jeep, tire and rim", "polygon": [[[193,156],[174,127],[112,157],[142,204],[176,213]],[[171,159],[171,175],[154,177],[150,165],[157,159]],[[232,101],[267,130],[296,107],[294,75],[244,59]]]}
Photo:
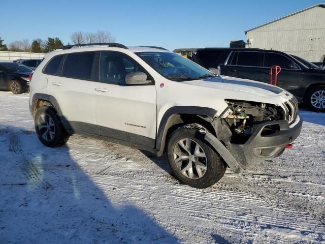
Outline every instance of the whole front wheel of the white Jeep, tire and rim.
{"label": "whole front wheel of the white Jeep, tire and rim", "polygon": [[204,140],[204,133],[193,127],[181,127],[172,133],[167,156],[174,176],[194,188],[214,185],[226,170],[220,156]]}

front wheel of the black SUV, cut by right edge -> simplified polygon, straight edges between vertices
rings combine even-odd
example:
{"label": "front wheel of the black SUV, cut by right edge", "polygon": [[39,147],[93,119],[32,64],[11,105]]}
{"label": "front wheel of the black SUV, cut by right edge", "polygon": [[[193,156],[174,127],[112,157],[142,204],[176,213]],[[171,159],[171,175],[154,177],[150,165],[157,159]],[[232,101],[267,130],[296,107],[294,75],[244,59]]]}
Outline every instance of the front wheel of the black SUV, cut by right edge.
{"label": "front wheel of the black SUV, cut by right edge", "polygon": [[315,112],[325,112],[325,85],[310,89],[306,95],[308,107]]}

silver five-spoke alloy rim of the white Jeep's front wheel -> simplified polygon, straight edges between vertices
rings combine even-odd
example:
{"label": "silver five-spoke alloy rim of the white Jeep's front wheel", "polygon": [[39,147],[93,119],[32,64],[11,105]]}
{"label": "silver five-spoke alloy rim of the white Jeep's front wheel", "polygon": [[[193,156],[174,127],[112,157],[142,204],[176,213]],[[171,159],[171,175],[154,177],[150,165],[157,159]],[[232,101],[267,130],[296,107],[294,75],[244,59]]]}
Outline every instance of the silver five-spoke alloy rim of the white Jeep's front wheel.
{"label": "silver five-spoke alloy rim of the white Jeep's front wheel", "polygon": [[180,172],[190,179],[199,179],[207,172],[207,157],[203,148],[188,138],[174,146],[174,161]]}

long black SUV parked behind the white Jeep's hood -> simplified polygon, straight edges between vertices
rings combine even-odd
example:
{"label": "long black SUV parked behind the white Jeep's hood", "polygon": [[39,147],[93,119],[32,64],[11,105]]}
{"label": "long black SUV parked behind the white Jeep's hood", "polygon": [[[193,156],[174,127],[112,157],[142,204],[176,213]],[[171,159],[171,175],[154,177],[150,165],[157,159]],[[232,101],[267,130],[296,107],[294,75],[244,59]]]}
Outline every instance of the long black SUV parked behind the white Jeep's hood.
{"label": "long black SUV parked behind the white Jeep's hood", "polygon": [[270,83],[271,66],[280,66],[277,85],[312,110],[325,112],[325,70],[309,68],[294,56],[255,48],[204,48],[198,49],[192,59],[206,69],[220,66],[225,76],[266,83]]}

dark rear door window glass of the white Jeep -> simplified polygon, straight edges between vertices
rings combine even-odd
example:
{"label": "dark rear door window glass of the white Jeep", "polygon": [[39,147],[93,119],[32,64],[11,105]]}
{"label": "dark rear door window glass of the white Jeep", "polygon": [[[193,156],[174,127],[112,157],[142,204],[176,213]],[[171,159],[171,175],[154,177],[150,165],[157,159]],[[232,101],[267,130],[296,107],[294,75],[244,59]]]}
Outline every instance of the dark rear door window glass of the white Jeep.
{"label": "dark rear door window glass of the white Jeep", "polygon": [[94,56],[94,52],[68,54],[63,62],[62,76],[90,80]]}

